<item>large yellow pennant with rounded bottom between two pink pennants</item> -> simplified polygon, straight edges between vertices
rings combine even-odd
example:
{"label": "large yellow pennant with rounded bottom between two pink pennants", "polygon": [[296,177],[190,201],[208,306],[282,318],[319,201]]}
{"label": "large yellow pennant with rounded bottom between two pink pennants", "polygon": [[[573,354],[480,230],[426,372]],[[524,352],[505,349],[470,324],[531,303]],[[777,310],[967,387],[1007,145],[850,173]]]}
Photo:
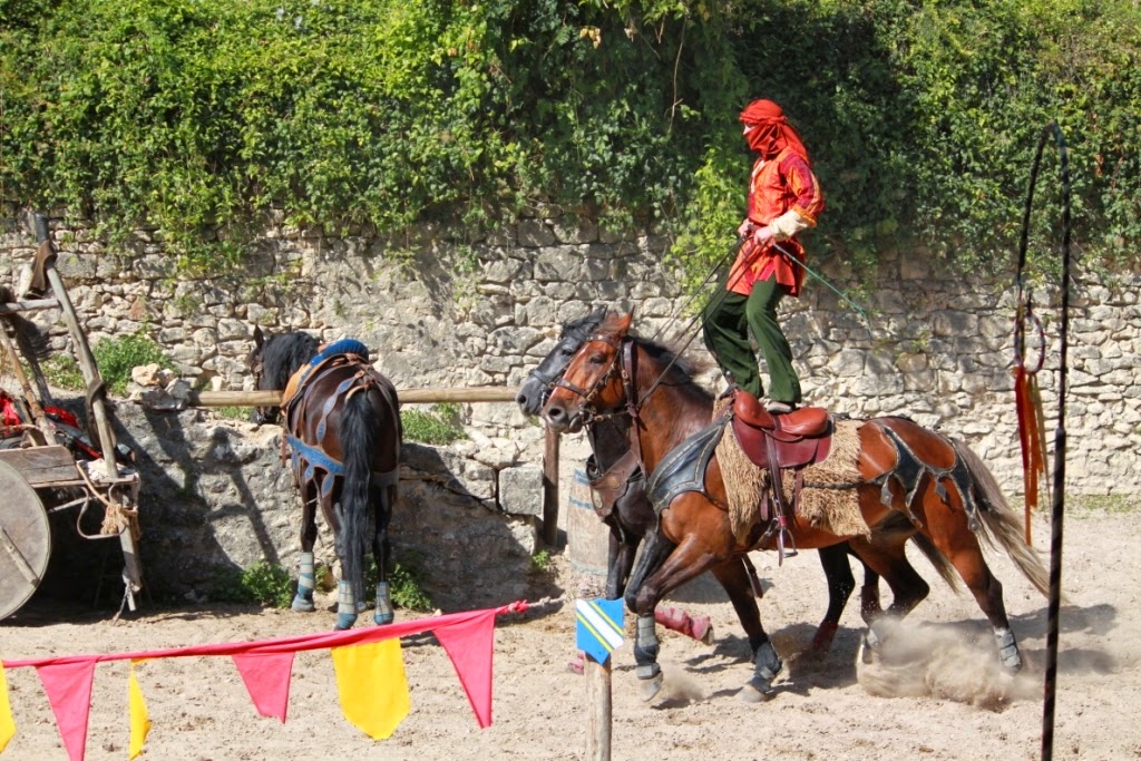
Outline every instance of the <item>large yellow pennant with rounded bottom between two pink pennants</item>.
{"label": "large yellow pennant with rounded bottom between two pink pennants", "polygon": [[331,654],[345,718],[373,739],[390,737],[412,707],[399,638],[334,647]]}

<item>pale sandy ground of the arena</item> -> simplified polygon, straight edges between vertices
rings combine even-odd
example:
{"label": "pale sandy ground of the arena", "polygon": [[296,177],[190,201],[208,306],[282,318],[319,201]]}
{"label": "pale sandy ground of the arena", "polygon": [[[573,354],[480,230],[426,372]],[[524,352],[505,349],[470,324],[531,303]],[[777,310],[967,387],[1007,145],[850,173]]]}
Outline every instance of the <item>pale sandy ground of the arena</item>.
{"label": "pale sandy ground of the arena", "polygon": [[[1035,543],[1049,545],[1036,521]],[[1141,758],[1141,634],[1136,556],[1139,513],[1075,512],[1066,520],[1058,697],[1057,759]],[[698,580],[672,605],[707,614],[712,646],[663,635],[663,693],[638,696],[629,643],[615,654],[613,758],[714,759],[1038,759],[1042,753],[1046,601],[1004,558],[993,568],[1028,666],[998,675],[989,628],[972,598],[939,583],[922,558],[916,567],[931,597],[897,635],[890,663],[857,666],[860,621],[855,600],[830,656],[798,661],[823,615],[825,588],[814,552],[777,566],[754,553],[771,584],[761,604],[766,625],[786,659],[777,695],[763,704],[738,699],[751,673],[739,624],[720,590]],[[555,573],[567,598],[590,596],[598,580],[576,574],[561,557]],[[884,593],[887,597],[887,592]],[[510,600],[504,600],[509,602]],[[403,612],[400,612],[403,613]],[[404,616],[410,617],[410,616]],[[294,614],[201,606],[141,610],[113,623],[107,612],[76,613],[33,601],[0,623],[0,656],[120,653],[201,642],[311,633],[332,614]],[[629,622],[628,622],[629,623]],[[363,625],[363,624],[361,624]],[[629,628],[629,626],[628,626]],[[144,759],[188,761],[269,759],[585,758],[586,678],[572,672],[572,606],[501,618],[494,656],[494,723],[479,729],[443,649],[430,637],[404,642],[412,712],[388,740],[372,742],[338,709],[326,654],[302,653],[294,664],[289,721],[257,715],[228,658],[170,658],[140,671],[153,728]],[[3,761],[65,759],[43,689],[33,670],[8,672],[17,735]],[[127,758],[127,666],[96,670],[88,759]]]}

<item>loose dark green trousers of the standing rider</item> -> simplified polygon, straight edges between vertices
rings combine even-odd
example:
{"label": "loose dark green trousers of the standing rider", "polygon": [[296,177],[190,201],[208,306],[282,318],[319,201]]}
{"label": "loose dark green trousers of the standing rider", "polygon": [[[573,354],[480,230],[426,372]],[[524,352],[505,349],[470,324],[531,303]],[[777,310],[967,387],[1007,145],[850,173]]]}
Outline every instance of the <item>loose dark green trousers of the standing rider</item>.
{"label": "loose dark green trousers of the standing rider", "polygon": [[764,389],[756,369],[756,355],[748,343],[748,331],[761,347],[761,356],[769,373],[769,398],[774,402],[799,404],[800,379],[792,366],[792,347],[777,323],[777,305],[785,290],[777,284],[776,275],[756,283],[747,296],[722,290],[713,294],[702,314],[705,347],[717,359],[721,372],[753,396]]}

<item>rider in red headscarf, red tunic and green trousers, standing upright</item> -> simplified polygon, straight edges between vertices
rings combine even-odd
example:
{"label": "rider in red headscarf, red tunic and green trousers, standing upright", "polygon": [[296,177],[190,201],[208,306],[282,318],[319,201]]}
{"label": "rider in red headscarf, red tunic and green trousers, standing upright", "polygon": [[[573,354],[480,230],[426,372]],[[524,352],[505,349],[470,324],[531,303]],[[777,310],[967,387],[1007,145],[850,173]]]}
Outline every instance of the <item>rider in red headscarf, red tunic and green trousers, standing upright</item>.
{"label": "rider in red headscarf, red tunic and green trousers, standing upright", "polygon": [[[758,154],[748,181],[748,210],[737,228],[741,248],[726,280],[702,315],[705,346],[730,381],[753,396],[762,394],[752,330],[769,373],[768,410],[791,412],[801,402],[792,348],[777,323],[777,305],[800,296],[804,248],[798,233],[816,226],[824,211],[820,184],[808,151],[771,100],[754,100],[741,112],[748,147]],[[792,259],[795,258],[794,262]]]}

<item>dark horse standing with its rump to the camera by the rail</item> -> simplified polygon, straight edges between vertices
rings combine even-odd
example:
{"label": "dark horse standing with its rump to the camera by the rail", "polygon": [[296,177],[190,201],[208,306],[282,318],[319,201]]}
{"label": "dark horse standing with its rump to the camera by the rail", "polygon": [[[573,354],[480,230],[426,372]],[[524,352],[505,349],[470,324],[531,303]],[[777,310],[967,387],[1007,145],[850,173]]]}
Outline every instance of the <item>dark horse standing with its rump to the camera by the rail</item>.
{"label": "dark horse standing with its rump to the camera by the rail", "polygon": [[[357,341],[322,349],[307,333],[265,338],[254,329],[249,367],[259,389],[285,389],[282,407],[258,408],[257,422],[284,412],[288,452],[301,495],[301,558],[293,609],[314,609],[316,505],[341,561],[337,629],[350,629],[364,602],[365,557],[372,547],[380,581],[373,621],[394,620],[388,589],[388,525],[396,503],[403,431],[391,382],[369,364]],[[370,531],[371,527],[371,531]]]}

